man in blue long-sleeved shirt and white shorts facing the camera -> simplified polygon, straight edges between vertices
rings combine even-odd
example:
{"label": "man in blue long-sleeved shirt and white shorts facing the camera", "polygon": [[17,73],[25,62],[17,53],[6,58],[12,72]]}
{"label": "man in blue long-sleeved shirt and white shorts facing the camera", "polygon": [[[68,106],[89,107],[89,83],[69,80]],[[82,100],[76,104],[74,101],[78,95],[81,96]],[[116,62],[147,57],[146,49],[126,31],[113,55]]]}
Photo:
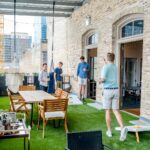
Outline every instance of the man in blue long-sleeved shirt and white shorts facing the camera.
{"label": "man in blue long-sleeved shirt and white shorts facing the camera", "polygon": [[80,86],[80,99],[84,99],[86,85],[87,85],[88,72],[89,72],[89,64],[85,62],[84,56],[80,57],[80,61],[81,62],[78,64],[78,68],[77,68],[77,77],[78,77],[78,83]]}

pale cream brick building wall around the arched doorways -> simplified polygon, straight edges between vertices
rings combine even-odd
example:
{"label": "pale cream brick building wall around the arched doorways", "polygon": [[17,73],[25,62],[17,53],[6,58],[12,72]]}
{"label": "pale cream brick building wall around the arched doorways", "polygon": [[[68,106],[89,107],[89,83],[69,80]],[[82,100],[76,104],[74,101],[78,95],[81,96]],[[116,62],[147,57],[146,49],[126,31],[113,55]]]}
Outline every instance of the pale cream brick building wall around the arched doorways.
{"label": "pale cream brick building wall around the arched doorways", "polygon": [[[85,25],[86,16],[91,16],[91,24]],[[141,116],[150,118],[150,1],[149,0],[91,0],[75,10],[68,19],[57,19],[55,23],[55,52],[54,62],[64,62],[64,71],[76,75],[79,57],[84,54],[84,35],[91,30],[98,34],[98,71],[103,66],[103,57],[113,51],[118,55],[116,48],[117,24],[132,18],[143,17],[143,69],[142,69],[142,98]],[[50,18],[48,18],[51,21]],[[59,21],[58,21],[59,20]],[[49,41],[51,41],[51,26],[49,25]],[[49,53],[51,54],[51,43]],[[49,55],[50,55],[49,54]],[[116,57],[119,66],[119,56]],[[78,84],[72,78],[73,90],[78,91]],[[97,100],[101,100],[102,89],[97,86]]]}

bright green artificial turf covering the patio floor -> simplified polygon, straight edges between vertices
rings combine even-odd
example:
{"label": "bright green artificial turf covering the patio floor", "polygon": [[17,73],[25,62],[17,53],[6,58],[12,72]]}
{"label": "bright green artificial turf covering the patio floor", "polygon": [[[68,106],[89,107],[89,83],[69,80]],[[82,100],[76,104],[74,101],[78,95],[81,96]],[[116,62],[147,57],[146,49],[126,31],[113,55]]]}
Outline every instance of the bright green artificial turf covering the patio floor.
{"label": "bright green artificial turf covering the patio floor", "polygon": [[[0,109],[8,109],[9,100],[7,97],[0,97]],[[129,125],[130,120],[136,119],[133,116],[122,113],[126,125]],[[113,116],[113,129],[118,126]],[[42,138],[42,123],[41,129],[37,130],[37,108],[34,110],[35,126],[31,131],[31,150],[64,150],[66,147],[66,135],[64,126],[53,128],[53,124],[49,121],[45,130],[45,139]],[[150,133],[140,133],[140,143],[136,143],[135,134],[128,133],[125,142],[119,141],[119,132],[113,130],[113,137],[108,138],[105,135],[106,126],[104,119],[104,111],[99,111],[87,105],[69,106],[68,108],[68,128],[70,132],[102,130],[103,143],[108,144],[114,150],[149,150],[150,149]],[[0,140],[0,150],[22,150],[23,139]]]}

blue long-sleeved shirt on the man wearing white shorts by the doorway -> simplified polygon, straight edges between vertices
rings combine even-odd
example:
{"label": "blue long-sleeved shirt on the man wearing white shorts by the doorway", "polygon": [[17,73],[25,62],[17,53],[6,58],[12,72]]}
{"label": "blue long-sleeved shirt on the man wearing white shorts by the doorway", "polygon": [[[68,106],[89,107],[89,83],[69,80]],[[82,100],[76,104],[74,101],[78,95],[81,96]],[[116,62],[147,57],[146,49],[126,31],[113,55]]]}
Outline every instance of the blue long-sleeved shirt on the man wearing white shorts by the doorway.
{"label": "blue long-sleeved shirt on the man wearing white shorts by the doorway", "polygon": [[78,69],[77,69],[77,76],[85,79],[88,77],[89,70],[90,70],[90,67],[88,63],[86,62],[79,63]]}

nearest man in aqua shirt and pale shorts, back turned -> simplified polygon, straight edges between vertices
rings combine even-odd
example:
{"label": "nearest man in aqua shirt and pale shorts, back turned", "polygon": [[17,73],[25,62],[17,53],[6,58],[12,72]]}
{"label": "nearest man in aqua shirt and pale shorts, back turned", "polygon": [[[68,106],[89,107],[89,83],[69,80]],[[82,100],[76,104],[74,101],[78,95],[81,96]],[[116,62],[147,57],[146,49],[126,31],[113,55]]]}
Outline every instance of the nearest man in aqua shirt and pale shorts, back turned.
{"label": "nearest man in aqua shirt and pale shorts, back turned", "polygon": [[121,127],[120,141],[126,139],[128,129],[124,127],[122,116],[119,110],[119,90],[117,84],[117,67],[114,64],[115,55],[113,53],[107,53],[107,62],[101,71],[100,83],[103,84],[104,101],[103,108],[105,109],[105,119],[107,125],[106,135],[112,137],[111,129],[111,110],[113,110],[118,124]]}

